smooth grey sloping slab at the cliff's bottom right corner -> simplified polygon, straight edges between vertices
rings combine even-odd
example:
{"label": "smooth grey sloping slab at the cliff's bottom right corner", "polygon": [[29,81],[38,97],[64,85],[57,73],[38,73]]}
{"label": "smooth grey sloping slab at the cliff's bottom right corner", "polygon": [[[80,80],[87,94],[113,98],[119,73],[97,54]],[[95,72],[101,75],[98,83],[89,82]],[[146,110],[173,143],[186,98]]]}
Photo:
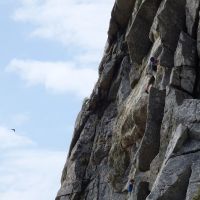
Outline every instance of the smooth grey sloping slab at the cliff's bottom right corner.
{"label": "smooth grey sloping slab at the cliff's bottom right corner", "polygon": [[146,200],[185,199],[191,175],[190,167],[197,158],[198,155],[186,155],[170,159],[158,174]]}

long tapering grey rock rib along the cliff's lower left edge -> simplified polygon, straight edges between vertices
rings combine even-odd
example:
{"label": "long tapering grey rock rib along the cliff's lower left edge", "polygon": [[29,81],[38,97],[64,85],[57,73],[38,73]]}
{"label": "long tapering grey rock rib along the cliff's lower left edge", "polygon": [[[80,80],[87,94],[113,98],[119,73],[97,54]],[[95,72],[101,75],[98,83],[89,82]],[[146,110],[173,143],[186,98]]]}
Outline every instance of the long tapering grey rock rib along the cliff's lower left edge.
{"label": "long tapering grey rock rib along the cliff's lower left edge", "polygon": [[97,117],[91,115],[73,147],[62,174],[62,187],[57,196],[81,192],[82,178],[90,159]]}

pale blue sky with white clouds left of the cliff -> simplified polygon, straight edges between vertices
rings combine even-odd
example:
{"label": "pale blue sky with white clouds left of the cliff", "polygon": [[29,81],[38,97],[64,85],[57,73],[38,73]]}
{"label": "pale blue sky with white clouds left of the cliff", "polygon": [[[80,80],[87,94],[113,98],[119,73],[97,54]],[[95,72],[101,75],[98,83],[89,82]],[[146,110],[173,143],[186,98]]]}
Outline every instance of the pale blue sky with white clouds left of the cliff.
{"label": "pale blue sky with white clouds left of the cliff", "polygon": [[113,4],[0,0],[1,200],[55,199]]}

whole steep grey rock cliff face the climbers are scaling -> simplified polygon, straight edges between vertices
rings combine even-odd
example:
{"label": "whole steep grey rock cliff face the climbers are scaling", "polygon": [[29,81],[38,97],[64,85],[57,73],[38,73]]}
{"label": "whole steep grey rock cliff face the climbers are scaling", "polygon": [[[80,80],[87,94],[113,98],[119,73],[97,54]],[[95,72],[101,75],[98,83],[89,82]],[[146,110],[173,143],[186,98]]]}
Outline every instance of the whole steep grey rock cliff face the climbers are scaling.
{"label": "whole steep grey rock cliff face the climbers are scaling", "polygon": [[56,200],[200,200],[199,11],[200,0],[116,0]]}

